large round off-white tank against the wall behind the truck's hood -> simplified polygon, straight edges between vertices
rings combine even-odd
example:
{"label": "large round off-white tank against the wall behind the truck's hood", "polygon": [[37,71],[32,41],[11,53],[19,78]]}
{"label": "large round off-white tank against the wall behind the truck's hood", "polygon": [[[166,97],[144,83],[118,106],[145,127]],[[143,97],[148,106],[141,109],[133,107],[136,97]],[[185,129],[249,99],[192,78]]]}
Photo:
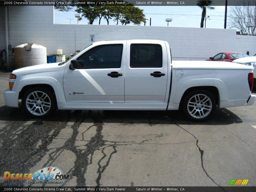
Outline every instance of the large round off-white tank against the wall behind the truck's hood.
{"label": "large round off-white tank against the wall behind the truck's hood", "polygon": [[35,43],[24,43],[14,47],[15,68],[47,63],[46,47]]}

